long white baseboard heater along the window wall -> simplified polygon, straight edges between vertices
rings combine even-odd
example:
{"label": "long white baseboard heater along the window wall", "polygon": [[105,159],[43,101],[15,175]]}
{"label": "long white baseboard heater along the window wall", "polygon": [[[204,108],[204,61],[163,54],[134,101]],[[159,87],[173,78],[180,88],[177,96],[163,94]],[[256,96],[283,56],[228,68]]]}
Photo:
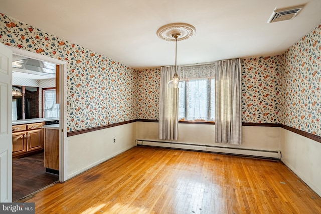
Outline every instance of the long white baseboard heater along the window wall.
{"label": "long white baseboard heater along the window wall", "polygon": [[241,156],[263,157],[263,158],[269,158],[269,159],[281,159],[280,151],[269,151],[269,150],[247,149],[247,148],[231,148],[231,147],[223,147],[223,146],[198,145],[198,144],[190,144],[190,143],[152,141],[152,140],[136,140],[136,145],[196,150],[196,151],[213,152],[213,153],[225,153],[225,154],[233,154],[233,155],[241,155]]}

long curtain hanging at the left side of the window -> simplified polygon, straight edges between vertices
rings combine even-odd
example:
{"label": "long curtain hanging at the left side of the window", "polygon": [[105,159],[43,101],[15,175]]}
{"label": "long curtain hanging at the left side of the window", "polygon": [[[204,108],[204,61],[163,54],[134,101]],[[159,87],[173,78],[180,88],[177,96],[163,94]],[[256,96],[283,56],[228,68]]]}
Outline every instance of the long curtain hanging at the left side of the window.
{"label": "long curtain hanging at the left side of the window", "polygon": [[[178,67],[178,73],[180,67]],[[159,90],[159,118],[158,131],[161,140],[178,139],[178,99],[179,89],[169,88],[168,82],[172,80],[175,66],[161,68],[161,88]]]}

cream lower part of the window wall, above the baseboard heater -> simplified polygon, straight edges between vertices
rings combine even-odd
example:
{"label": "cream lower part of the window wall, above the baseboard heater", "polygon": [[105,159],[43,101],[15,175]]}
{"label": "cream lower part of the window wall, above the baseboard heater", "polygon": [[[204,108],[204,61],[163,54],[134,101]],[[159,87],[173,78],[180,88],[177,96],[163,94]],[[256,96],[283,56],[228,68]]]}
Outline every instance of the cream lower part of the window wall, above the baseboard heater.
{"label": "cream lower part of the window wall, above the baseboard heater", "polygon": [[[242,145],[214,143],[214,128],[214,125],[179,123],[179,139],[177,142],[271,151],[280,150],[279,127],[242,126]],[[137,139],[159,140],[158,123],[137,122]]]}

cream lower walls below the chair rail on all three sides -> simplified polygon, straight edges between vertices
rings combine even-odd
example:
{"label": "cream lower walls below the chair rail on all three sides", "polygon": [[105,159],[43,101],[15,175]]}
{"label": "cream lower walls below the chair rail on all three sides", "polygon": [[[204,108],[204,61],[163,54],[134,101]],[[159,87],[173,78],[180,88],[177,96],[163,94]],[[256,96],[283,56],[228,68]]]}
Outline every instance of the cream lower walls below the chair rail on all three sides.
{"label": "cream lower walls below the chair rail on all three sides", "polygon": [[[134,147],[136,139],[158,141],[158,123],[134,122],[68,137],[68,179]],[[281,160],[321,195],[321,143],[283,128],[264,126],[243,126],[242,141],[242,145],[215,144],[214,125],[179,124],[179,143],[281,150]]]}

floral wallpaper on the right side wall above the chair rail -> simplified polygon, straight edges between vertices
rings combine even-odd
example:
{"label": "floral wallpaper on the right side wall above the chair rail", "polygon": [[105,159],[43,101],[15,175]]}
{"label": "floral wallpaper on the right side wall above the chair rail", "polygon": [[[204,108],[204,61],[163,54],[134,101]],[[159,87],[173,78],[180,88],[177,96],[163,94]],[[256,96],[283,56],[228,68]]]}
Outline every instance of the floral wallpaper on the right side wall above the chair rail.
{"label": "floral wallpaper on the right side wall above the chair rail", "polygon": [[321,136],[321,25],[284,54],[281,123]]}

